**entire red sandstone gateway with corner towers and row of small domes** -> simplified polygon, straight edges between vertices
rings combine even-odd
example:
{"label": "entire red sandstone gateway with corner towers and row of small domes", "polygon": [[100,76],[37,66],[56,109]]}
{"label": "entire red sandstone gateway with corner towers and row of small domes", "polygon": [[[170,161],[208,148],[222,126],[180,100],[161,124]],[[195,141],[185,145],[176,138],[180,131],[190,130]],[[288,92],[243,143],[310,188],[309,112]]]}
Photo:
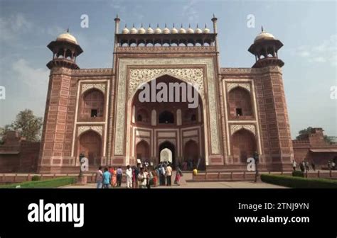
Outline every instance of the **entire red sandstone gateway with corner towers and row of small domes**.
{"label": "entire red sandstone gateway with corner towers and row of small domes", "polygon": [[[249,51],[252,68],[221,68],[217,18],[204,29],[124,28],[115,18],[112,69],[80,69],[77,40],[50,42],[50,84],[38,171],[78,171],[79,154],[99,165],[173,164],[246,170],[257,151],[262,170],[290,169],[294,152],[277,52],[282,42],[262,30]],[[165,47],[170,45],[171,47]],[[188,102],[139,102],[139,85],[186,82],[198,88]]]}

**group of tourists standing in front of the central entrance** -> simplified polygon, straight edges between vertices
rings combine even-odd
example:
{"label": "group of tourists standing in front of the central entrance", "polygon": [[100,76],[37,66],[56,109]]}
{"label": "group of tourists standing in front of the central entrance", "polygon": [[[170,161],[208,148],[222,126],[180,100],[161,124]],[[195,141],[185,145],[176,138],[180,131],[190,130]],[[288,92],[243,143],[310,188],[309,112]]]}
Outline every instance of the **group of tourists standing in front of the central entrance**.
{"label": "group of tourists standing in front of the central entrance", "polygon": [[[122,177],[125,174],[127,188],[151,188],[156,186],[171,186],[171,177],[173,169],[171,163],[162,162],[155,168],[149,166],[148,163],[137,164],[137,166],[127,166],[125,173],[122,167],[105,167],[100,166],[96,172],[97,188],[120,187],[122,185]],[[180,185],[179,181],[183,176],[183,172],[176,167],[176,177],[174,183]]]}

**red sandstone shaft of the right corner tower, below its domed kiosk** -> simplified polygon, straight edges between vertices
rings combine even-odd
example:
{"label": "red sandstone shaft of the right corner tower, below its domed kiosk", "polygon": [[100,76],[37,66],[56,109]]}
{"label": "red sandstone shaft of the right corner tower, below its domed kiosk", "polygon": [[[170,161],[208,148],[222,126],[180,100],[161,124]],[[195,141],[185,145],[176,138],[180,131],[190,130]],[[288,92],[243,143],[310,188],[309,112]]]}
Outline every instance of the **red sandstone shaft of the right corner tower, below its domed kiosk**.
{"label": "red sandstone shaft of the right corner tower, below its domed kiosk", "polygon": [[[263,154],[266,163],[289,166],[293,154],[281,69],[266,67],[255,77]],[[282,166],[281,166],[282,164]]]}

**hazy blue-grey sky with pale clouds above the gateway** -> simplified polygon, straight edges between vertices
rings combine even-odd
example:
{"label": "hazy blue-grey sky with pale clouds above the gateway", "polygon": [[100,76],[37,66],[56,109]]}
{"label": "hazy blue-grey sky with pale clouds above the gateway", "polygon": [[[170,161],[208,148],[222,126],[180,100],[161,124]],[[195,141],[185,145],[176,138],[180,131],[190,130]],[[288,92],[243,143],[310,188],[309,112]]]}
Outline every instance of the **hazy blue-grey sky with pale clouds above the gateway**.
{"label": "hazy blue-grey sky with pale clouds above the gateway", "polygon": [[[137,28],[141,23],[161,28],[206,23],[210,29],[214,13],[221,67],[252,67],[255,57],[247,49],[263,26],[284,44],[279,58],[285,63],[291,137],[309,126],[337,136],[337,100],[331,99],[331,86],[337,86],[336,11],[337,1],[0,0],[0,86],[6,88],[0,126],[25,108],[43,116],[46,64],[52,58],[46,46],[67,28],[84,50],[77,57],[80,68],[111,68],[117,13],[122,28],[125,23]],[[88,16],[88,28],[81,28],[82,14]],[[255,27],[247,27],[252,16]]]}

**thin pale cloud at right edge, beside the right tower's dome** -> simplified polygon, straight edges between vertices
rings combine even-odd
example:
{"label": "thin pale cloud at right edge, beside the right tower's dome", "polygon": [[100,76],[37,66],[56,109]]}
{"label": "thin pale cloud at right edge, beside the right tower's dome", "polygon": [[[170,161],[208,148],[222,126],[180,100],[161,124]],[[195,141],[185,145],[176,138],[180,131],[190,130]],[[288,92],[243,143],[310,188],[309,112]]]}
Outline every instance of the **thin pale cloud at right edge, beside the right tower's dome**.
{"label": "thin pale cloud at right edge, beside the right tower's dome", "polygon": [[331,35],[319,45],[303,45],[295,49],[296,55],[306,58],[308,62],[328,63],[337,66],[337,34]]}

